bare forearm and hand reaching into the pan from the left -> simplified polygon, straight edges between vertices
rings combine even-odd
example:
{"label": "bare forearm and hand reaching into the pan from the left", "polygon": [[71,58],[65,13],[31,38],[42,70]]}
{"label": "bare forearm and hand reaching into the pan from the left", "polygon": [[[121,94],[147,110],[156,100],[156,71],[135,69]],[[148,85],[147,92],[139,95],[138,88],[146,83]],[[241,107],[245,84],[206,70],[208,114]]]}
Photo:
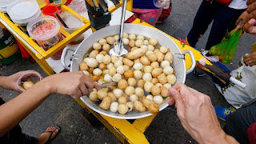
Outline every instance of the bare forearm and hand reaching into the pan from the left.
{"label": "bare forearm and hand reaching into the pan from the left", "polygon": [[54,74],[42,79],[29,90],[0,106],[0,137],[26,118],[50,94],[68,94],[73,98],[80,98],[89,94],[93,88],[99,89],[98,84],[82,72]]}

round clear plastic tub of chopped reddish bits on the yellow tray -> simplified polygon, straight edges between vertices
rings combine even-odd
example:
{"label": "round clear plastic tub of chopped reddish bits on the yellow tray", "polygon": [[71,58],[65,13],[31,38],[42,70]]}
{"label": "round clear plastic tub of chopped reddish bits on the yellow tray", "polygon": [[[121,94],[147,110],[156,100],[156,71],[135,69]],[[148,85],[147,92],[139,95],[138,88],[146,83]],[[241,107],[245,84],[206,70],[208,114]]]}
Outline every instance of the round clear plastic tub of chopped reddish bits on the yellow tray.
{"label": "round clear plastic tub of chopped reddish bits on the yellow tray", "polygon": [[31,38],[35,40],[47,40],[59,33],[58,21],[49,15],[35,19],[26,26]]}

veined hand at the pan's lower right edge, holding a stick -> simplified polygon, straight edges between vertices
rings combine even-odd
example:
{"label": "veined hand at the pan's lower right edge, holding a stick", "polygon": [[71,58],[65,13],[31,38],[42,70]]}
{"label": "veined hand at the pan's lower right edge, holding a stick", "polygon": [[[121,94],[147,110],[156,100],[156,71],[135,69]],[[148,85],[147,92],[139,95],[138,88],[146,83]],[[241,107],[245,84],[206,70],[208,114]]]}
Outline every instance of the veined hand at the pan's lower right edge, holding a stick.
{"label": "veined hand at the pan's lower right edge, holding a stick", "polygon": [[185,130],[199,143],[218,142],[226,137],[219,125],[210,98],[178,84],[169,89],[169,104],[177,107],[178,118]]}

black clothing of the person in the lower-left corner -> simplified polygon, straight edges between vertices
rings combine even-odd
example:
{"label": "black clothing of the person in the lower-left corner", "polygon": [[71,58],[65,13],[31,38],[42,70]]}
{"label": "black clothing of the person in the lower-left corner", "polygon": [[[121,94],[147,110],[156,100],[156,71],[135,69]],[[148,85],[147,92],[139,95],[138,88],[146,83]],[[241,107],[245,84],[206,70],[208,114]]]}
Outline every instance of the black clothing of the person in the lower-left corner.
{"label": "black clothing of the person in the lower-left corner", "polygon": [[[0,106],[5,102],[0,98]],[[21,126],[15,126],[6,135],[0,138],[0,143],[8,144],[36,144],[38,143],[38,138],[30,137],[29,135],[22,133]]]}

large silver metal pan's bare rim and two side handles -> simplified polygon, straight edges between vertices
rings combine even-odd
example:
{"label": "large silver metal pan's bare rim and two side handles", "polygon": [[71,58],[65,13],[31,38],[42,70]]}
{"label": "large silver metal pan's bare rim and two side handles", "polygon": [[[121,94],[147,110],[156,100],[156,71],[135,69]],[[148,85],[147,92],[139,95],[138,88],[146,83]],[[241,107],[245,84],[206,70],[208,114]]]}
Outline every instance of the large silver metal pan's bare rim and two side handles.
{"label": "large silver metal pan's bare rim and two side handles", "polygon": [[[141,34],[143,36],[146,36],[147,38],[156,38],[158,39],[158,42],[162,46],[166,46],[170,48],[170,53],[174,56],[174,62],[172,66],[175,70],[175,76],[177,78],[176,83],[184,83],[186,80],[186,74],[190,73],[192,70],[194,70],[195,61],[194,61],[194,55],[190,50],[186,50],[181,52],[179,50],[178,46],[175,44],[175,42],[166,34],[162,33],[160,30],[151,28],[149,26],[143,26],[138,24],[130,24],[127,23],[124,26],[124,31],[128,34]],[[66,69],[70,69],[70,71],[78,71],[79,70],[79,64],[82,62],[82,58],[84,54],[88,50],[90,50],[90,47],[94,44],[94,42],[98,42],[100,38],[106,38],[108,36],[112,36],[115,34],[118,34],[119,32],[119,25],[118,26],[108,26],[103,28],[102,30],[96,31],[94,34],[91,34],[89,38],[86,38],[75,50],[73,54],[71,66],[66,66],[65,56],[67,50],[70,50],[68,48],[63,50],[62,54],[62,64],[66,67]],[[184,54],[189,53],[190,58],[192,60],[192,66],[190,67],[190,70],[186,71],[186,65],[184,60]],[[90,101],[88,96],[83,96],[81,98],[82,102],[86,104],[86,106],[89,106],[90,109],[98,112],[99,114],[106,115],[108,117],[112,118],[120,118],[120,119],[137,119],[137,118],[145,118],[152,114],[150,114],[149,111],[146,112],[138,112],[137,110],[132,110],[131,112],[128,112],[126,114],[118,114],[113,113],[110,110],[102,110],[97,104]],[[168,106],[168,102],[163,103],[161,106],[159,106],[160,111],[165,109]]]}

